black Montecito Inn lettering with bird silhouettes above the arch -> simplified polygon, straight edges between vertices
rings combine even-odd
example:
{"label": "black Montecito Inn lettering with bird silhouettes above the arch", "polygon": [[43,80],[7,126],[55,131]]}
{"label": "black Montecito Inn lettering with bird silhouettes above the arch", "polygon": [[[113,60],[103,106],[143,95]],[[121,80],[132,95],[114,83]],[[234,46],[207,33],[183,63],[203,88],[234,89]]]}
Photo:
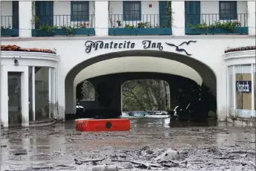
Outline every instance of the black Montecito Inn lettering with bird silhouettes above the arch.
{"label": "black Montecito Inn lettering with bird silhouettes above the arch", "polygon": [[[168,45],[168,48],[173,47],[175,48],[175,51],[178,52],[185,52],[188,56],[191,56],[191,54],[188,54],[188,52],[184,48],[179,48],[182,45],[189,45],[191,42],[195,43],[196,41],[188,41],[188,42],[182,42],[179,45],[174,45],[173,43],[165,42],[164,45]],[[152,40],[143,40],[141,42],[141,45],[143,45],[144,49],[156,49],[159,51],[164,50],[164,45],[162,42],[154,42]],[[91,40],[86,41],[86,53],[89,54],[92,51],[97,51],[99,49],[133,49],[135,48],[135,42],[131,41],[124,41],[124,42],[103,42],[103,41],[96,41],[92,42]]]}

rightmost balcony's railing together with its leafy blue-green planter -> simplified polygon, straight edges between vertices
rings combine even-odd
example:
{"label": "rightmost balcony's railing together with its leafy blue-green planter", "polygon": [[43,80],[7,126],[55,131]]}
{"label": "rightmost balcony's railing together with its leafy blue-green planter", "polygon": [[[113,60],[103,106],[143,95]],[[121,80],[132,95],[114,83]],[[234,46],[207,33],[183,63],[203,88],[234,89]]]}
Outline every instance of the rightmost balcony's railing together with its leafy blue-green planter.
{"label": "rightmost balcony's railing together with its leafy blue-green planter", "polygon": [[[232,16],[232,15],[229,15]],[[219,13],[186,14],[186,34],[248,34],[248,14],[220,18]]]}

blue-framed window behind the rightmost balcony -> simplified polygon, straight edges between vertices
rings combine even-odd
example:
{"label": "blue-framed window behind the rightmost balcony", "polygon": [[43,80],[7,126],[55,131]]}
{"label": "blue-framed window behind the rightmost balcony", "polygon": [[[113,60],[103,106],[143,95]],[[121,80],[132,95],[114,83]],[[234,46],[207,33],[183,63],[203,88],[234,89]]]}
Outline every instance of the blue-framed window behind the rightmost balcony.
{"label": "blue-framed window behind the rightmost balcony", "polygon": [[220,19],[237,19],[237,1],[220,1]]}

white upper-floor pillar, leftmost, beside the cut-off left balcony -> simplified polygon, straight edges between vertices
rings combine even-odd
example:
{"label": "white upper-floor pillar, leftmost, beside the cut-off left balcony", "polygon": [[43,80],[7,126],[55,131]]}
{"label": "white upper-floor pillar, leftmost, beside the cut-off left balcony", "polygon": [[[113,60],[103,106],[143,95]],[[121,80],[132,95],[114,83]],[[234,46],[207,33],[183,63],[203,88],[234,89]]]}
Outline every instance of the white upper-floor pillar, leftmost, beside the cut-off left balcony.
{"label": "white upper-floor pillar, leftmost, beside the cut-off left balcony", "polygon": [[19,37],[31,37],[32,1],[19,1]]}

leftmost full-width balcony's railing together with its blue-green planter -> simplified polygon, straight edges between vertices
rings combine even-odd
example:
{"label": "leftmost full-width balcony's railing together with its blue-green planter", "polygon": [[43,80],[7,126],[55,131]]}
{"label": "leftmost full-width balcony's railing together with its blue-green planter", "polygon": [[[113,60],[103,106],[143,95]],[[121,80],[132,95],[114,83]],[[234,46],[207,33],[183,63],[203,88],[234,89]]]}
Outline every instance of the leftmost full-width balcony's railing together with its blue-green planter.
{"label": "leftmost full-width balcony's railing together with its blue-green planter", "polygon": [[95,16],[33,16],[32,36],[94,36]]}

